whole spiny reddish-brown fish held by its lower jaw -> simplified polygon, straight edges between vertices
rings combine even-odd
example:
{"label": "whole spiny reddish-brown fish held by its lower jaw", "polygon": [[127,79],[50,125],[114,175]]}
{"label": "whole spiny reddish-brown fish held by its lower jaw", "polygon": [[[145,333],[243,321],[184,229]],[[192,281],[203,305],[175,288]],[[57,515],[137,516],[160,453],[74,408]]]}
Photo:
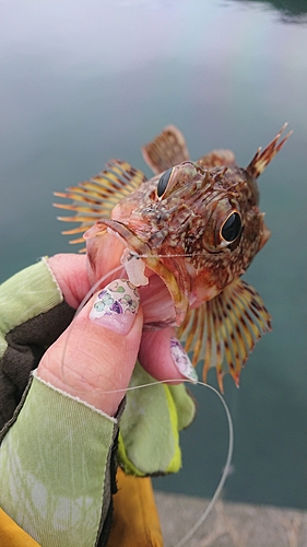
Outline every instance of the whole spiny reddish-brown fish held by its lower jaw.
{"label": "whole spiny reddish-brown fish held by its lower jaw", "polygon": [[128,162],[111,160],[97,176],[56,196],[74,211],[59,217],[80,225],[63,234],[86,241],[88,275],[122,264],[138,286],[144,328],[176,326],[202,377],[216,369],[240,372],[255,344],[271,330],[271,316],[258,292],[241,276],[270,237],[259,209],[258,177],[288,139],[287,124],[247,167],[228,149],[212,150],[191,161],[181,131],[169,125],[142,148],[153,171],[150,179]]}

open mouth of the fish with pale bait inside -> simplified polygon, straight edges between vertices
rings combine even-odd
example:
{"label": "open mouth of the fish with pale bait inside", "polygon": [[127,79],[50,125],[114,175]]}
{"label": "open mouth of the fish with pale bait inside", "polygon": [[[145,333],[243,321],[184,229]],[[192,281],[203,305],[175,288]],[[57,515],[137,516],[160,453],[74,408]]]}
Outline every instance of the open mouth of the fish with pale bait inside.
{"label": "open mouth of the fish with pale bait inside", "polygon": [[[123,252],[120,263],[126,268],[130,281],[139,288],[145,328],[180,326],[186,317],[189,301],[174,274],[144,241],[119,221],[102,219],[96,226],[84,234],[84,237],[90,240],[106,232],[121,241]],[[91,261],[91,256],[88,258]],[[130,277],[131,271],[133,276]]]}

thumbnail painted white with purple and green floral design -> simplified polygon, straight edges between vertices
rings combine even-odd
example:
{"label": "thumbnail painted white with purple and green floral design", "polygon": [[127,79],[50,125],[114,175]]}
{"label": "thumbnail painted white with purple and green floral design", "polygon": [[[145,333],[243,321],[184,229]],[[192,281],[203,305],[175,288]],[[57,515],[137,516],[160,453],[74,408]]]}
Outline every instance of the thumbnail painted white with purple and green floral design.
{"label": "thumbnail painted white with purple and green floral design", "polygon": [[127,279],[116,279],[97,294],[90,312],[90,319],[127,335],[134,323],[139,303],[137,287]]}

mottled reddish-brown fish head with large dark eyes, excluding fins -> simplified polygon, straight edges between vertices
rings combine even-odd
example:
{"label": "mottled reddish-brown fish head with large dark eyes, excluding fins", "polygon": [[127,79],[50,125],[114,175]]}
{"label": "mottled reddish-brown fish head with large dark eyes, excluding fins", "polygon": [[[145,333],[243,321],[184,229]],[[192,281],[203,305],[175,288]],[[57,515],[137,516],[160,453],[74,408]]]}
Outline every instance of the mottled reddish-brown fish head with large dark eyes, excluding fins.
{"label": "mottled reddish-brown fish head with large dark eyes, excluding fins", "polygon": [[270,235],[256,178],[236,165],[191,161],[142,183],[92,235],[106,226],[163,280],[177,325],[243,275]]}

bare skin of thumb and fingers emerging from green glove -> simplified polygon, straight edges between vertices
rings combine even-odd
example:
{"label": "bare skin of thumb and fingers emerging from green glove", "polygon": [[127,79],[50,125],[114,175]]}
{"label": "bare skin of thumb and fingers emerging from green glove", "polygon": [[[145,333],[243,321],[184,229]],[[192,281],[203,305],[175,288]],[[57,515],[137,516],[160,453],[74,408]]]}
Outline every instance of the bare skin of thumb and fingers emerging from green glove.
{"label": "bare skin of thumb and fingers emerging from green glove", "polygon": [[[76,309],[91,289],[86,257],[56,255],[48,264],[67,303]],[[196,381],[188,357],[174,340],[174,328],[142,333],[138,291],[127,281],[120,282],[120,287],[122,292],[115,292],[113,281],[105,288],[107,292],[98,291],[101,296],[96,294],[87,302],[46,351],[37,370],[38,376],[55,387],[110,416],[117,412],[138,356],[143,368],[157,380]],[[120,307],[126,313],[120,313]]]}

